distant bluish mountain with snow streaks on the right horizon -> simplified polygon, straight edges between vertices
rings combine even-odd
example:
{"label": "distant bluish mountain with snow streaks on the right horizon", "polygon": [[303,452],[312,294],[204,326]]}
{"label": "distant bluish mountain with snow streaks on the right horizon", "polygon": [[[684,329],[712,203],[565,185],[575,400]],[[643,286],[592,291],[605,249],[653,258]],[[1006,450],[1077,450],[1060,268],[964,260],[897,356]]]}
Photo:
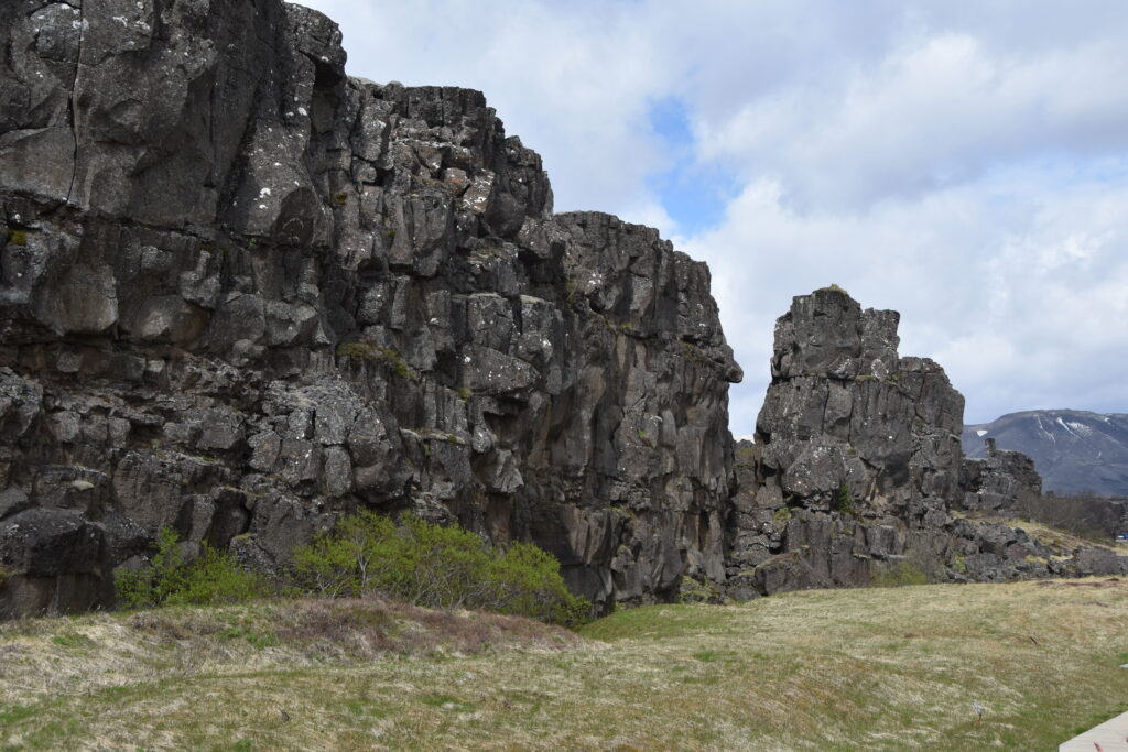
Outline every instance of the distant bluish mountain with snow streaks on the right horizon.
{"label": "distant bluish mountain with snow streaks on the right horizon", "polygon": [[985,439],[1029,454],[1045,490],[1128,496],[1128,415],[1030,410],[963,427],[963,452],[984,457]]}

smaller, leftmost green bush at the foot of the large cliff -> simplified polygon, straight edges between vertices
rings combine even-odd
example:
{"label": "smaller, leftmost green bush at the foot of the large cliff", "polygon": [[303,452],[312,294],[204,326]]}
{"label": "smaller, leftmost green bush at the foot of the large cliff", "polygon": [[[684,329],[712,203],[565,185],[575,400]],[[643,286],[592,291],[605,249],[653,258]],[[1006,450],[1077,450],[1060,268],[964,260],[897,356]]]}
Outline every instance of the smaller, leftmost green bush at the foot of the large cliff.
{"label": "smaller, leftmost green bush at the foot of the large cliff", "polygon": [[157,534],[157,552],[136,572],[118,575],[114,583],[126,608],[159,605],[215,605],[240,603],[272,594],[265,578],[239,567],[230,554],[208,543],[186,561],[177,536],[168,528]]}

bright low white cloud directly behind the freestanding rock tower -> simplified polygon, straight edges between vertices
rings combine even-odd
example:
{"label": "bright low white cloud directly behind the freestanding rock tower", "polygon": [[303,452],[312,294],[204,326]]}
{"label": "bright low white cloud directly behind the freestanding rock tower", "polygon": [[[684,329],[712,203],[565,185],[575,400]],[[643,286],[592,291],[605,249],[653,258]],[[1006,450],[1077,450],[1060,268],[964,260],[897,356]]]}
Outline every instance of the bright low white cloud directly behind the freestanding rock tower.
{"label": "bright low white cloud directly behind the freestanding rock tower", "polygon": [[830,283],[899,310],[901,353],[945,366],[969,422],[1036,407],[1122,412],[1128,214],[1118,206],[1128,183],[984,179],[864,215],[800,213],[777,185],[749,186],[720,228],[682,244],[710,262],[746,366],[734,428],[755,423],[772,321],[793,294]]}

